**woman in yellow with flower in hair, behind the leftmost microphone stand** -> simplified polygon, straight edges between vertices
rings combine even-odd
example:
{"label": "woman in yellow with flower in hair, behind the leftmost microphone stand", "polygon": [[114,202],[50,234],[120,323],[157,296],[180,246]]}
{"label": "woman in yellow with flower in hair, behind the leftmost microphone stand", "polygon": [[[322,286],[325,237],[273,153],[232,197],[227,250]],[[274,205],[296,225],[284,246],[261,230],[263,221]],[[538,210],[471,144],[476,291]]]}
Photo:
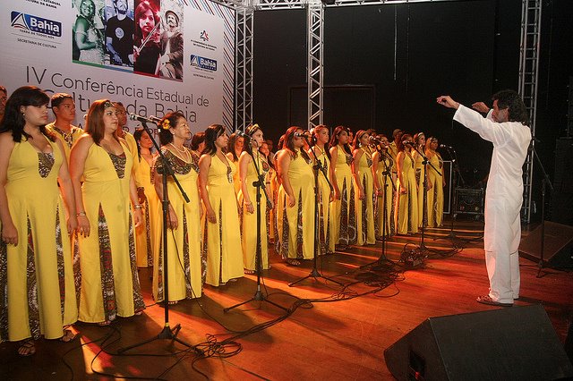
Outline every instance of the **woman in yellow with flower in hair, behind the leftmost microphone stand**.
{"label": "woman in yellow with flower in hair, behind the leftmost microphone stand", "polygon": [[[159,126],[161,152],[189,198],[189,202],[186,202],[173,178],[167,176],[167,301],[175,304],[184,299],[199,298],[202,293],[204,266],[201,259],[201,199],[197,182],[199,165],[193,160],[189,148],[184,146],[184,141],[191,138],[184,114],[166,114]],[[163,162],[157,158],[153,177],[159,199],[163,199],[164,175]],[[159,224],[159,229],[163,232],[162,224]],[[166,300],[162,233],[160,237],[158,255],[153,265],[155,301]]]}

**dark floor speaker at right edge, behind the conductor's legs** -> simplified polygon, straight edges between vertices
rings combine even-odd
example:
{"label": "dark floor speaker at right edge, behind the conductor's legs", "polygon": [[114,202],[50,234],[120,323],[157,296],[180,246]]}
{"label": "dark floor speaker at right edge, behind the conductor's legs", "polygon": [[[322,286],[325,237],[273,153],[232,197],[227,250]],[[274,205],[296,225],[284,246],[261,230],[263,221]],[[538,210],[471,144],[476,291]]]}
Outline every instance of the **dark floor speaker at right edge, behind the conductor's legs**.
{"label": "dark floor speaker at right edge, behind the conductor's legs", "polygon": [[[535,262],[541,259],[541,228],[527,234],[519,243],[519,257]],[[573,267],[573,226],[545,221],[543,241],[543,265],[549,267]]]}

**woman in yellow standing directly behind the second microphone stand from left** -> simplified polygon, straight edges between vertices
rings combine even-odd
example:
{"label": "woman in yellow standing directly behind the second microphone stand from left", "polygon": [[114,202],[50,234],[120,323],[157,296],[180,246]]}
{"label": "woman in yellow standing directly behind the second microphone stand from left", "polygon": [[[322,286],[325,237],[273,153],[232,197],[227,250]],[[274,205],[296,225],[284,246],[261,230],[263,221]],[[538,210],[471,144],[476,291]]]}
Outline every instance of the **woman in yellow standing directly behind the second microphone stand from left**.
{"label": "woman in yellow standing directly behind the second microphone stand from left", "polygon": [[[242,228],[243,228],[243,263],[245,274],[254,274],[256,270],[257,251],[257,188],[252,185],[258,182],[258,173],[263,177],[263,181],[269,172],[269,163],[259,152],[261,144],[265,141],[262,130],[258,124],[249,126],[246,134],[250,139],[245,139],[246,149],[239,157],[239,178],[241,179],[241,190],[239,191],[239,205],[243,208]],[[250,143],[250,144],[249,144]],[[253,160],[254,157],[254,160]],[[256,168],[255,168],[256,165]],[[269,192],[265,182],[265,190]],[[270,195],[269,195],[270,198]],[[272,204],[271,204],[272,205]],[[261,234],[261,269],[269,268],[269,244],[267,234],[267,198],[261,190],[261,203],[259,205],[260,214],[260,234]]]}

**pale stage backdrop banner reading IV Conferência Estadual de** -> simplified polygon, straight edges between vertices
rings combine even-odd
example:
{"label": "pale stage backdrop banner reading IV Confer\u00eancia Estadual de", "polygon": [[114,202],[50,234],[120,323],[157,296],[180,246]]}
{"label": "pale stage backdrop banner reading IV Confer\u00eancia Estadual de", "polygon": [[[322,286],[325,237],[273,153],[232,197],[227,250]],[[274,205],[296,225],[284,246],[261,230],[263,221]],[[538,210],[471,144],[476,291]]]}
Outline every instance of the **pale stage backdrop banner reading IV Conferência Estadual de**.
{"label": "pale stage backdrop banner reading IV Confer\u00eancia Estadual de", "polygon": [[[232,123],[234,11],[210,1],[21,0],[0,4],[0,84],[73,95],[128,113],[184,114],[193,132]],[[130,130],[138,125],[130,121]]]}

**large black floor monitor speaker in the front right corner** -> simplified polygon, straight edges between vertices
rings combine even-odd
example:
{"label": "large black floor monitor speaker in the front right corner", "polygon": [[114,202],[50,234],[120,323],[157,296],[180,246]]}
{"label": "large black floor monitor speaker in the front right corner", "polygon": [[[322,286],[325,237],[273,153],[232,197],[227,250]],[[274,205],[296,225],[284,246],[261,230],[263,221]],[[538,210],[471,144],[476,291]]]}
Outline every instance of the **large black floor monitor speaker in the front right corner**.
{"label": "large black floor monitor speaker in the front right corner", "polygon": [[384,351],[398,380],[555,380],[573,366],[541,305],[428,318]]}

